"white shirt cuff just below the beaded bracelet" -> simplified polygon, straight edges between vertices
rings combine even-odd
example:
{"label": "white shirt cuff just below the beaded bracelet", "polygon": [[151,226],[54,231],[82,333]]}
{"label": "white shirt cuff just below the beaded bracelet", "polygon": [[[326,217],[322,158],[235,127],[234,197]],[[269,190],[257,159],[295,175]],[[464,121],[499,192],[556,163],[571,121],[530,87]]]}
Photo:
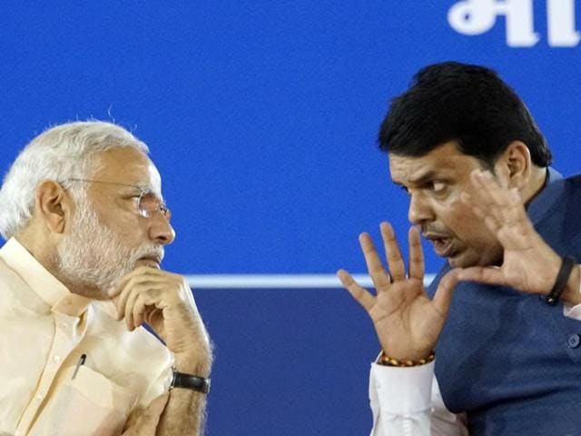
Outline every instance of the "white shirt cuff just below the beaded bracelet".
{"label": "white shirt cuff just below the beaded bracelet", "polygon": [[[371,363],[370,396],[381,411],[408,415],[430,410],[434,362],[400,368]],[[373,398],[377,394],[376,398]]]}

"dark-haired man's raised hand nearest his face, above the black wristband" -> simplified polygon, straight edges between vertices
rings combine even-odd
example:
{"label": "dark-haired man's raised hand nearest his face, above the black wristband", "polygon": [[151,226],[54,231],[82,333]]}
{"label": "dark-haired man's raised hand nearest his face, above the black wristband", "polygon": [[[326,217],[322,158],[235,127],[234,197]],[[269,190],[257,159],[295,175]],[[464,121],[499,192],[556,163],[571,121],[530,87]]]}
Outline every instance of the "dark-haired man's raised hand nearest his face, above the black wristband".
{"label": "dark-haired man's raised hand nearest his face, above the black wristband", "polygon": [[[458,273],[458,278],[507,285],[531,293],[549,292],[555,283],[561,258],[533,227],[517,191],[499,186],[490,173],[475,171],[470,177],[478,190],[478,199],[463,193],[462,201],[496,234],[504,248],[504,256],[499,267],[466,268]],[[578,271],[571,275],[576,274]],[[566,294],[563,297],[565,299]]]}

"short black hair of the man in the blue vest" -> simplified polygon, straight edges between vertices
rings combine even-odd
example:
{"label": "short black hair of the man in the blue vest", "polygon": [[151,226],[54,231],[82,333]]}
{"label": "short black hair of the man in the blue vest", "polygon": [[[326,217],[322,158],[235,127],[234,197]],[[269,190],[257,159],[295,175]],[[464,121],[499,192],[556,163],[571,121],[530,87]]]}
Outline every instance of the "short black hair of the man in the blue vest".
{"label": "short black hair of the man in the blue vest", "polygon": [[488,168],[513,141],[527,145],[537,166],[552,160],[527,106],[496,72],[478,65],[422,68],[379,128],[379,148],[389,154],[423,156],[450,141]]}

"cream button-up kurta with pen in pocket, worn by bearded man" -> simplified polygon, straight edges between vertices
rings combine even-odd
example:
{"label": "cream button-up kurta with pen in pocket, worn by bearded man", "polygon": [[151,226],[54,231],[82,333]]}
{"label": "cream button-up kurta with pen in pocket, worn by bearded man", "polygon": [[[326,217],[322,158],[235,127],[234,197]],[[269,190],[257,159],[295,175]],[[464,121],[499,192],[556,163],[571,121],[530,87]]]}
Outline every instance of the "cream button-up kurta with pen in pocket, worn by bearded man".
{"label": "cream button-up kurta with pen in pocket, worn by bearded man", "polygon": [[112,302],[69,292],[14,238],[0,249],[0,433],[121,434],[171,367],[151,333],[116,321]]}

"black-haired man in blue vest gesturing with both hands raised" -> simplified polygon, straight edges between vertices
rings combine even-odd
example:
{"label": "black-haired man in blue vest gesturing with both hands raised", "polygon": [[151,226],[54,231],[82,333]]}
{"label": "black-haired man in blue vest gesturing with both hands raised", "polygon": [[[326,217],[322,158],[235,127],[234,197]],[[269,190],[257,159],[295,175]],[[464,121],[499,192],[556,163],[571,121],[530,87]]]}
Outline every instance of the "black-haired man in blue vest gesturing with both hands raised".
{"label": "black-haired man in blue vest gesturing with both hands raised", "polygon": [[[562,178],[517,94],[493,71],[430,65],[379,132],[409,194],[409,267],[389,223],[377,294],[338,272],[382,347],[373,435],[581,434],[581,177]],[[420,233],[447,262],[424,291]]]}

